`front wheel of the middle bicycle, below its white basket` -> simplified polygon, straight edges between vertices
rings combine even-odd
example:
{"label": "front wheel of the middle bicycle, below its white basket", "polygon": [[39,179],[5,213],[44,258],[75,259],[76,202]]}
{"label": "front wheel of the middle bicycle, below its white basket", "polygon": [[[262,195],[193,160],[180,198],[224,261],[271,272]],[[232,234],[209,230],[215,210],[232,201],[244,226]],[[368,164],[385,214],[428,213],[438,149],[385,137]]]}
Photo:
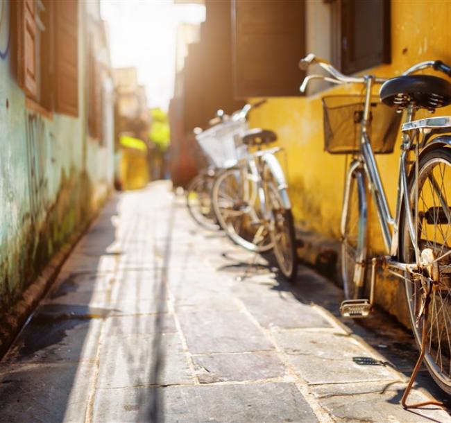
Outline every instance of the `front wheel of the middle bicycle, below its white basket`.
{"label": "front wheel of the middle bicycle, below its white basket", "polygon": [[246,169],[223,171],[214,181],[212,203],[219,225],[232,241],[247,250],[263,252],[272,245],[253,179]]}

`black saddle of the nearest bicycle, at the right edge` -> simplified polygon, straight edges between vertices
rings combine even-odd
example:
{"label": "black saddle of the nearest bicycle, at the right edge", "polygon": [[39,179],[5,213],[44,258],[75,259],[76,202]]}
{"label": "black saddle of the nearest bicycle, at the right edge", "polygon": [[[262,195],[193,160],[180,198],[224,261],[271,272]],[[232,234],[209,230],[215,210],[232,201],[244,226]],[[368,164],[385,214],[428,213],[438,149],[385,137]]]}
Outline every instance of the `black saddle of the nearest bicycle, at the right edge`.
{"label": "black saddle of the nearest bicycle, at the right edge", "polygon": [[391,78],[380,88],[382,103],[401,110],[409,103],[434,110],[451,103],[451,84],[431,75],[405,75]]}

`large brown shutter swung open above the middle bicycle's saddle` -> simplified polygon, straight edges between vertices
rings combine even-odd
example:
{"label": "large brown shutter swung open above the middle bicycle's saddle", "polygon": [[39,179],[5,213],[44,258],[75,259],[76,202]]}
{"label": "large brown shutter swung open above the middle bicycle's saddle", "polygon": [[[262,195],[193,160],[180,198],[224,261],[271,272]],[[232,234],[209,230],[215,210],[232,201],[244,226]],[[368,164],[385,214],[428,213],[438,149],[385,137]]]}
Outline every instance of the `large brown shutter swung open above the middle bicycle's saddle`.
{"label": "large brown shutter swung open above the middle bicycle's saddle", "polygon": [[237,98],[300,94],[303,0],[232,1],[232,36]]}

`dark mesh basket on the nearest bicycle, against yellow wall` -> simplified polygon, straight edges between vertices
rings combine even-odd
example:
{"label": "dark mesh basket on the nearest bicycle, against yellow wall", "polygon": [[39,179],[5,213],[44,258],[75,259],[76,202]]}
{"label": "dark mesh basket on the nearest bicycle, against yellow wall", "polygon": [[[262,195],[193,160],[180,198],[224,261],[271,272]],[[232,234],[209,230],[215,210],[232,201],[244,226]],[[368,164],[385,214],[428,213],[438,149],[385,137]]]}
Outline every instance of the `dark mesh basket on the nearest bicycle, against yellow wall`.
{"label": "dark mesh basket on the nearest bicycle, against yellow wall", "polygon": [[[328,153],[358,153],[360,150],[361,119],[364,113],[364,96],[325,96],[324,148]],[[368,134],[375,154],[393,152],[401,115],[395,108],[384,105],[379,97],[371,97],[371,124]]]}

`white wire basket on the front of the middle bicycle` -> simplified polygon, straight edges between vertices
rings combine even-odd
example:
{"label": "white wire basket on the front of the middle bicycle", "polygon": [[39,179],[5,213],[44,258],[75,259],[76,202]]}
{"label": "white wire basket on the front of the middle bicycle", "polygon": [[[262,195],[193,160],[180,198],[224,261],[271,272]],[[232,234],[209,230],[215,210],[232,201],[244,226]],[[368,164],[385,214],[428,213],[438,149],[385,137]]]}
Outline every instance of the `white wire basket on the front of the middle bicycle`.
{"label": "white wire basket on the front of the middle bicycle", "polygon": [[206,129],[196,135],[196,139],[209,162],[216,168],[226,169],[246,157],[248,150],[242,140],[246,129],[244,120],[226,121]]}

